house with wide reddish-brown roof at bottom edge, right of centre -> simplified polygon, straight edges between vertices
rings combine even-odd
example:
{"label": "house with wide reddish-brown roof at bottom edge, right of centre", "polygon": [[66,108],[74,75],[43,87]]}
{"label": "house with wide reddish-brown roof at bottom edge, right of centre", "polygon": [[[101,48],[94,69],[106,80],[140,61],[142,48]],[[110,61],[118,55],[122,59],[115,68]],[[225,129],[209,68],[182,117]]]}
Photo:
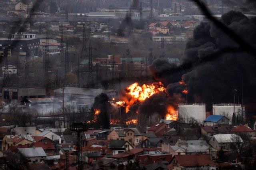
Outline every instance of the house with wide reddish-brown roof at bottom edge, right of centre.
{"label": "house with wide reddish-brown roof at bottom edge, right of centre", "polygon": [[180,170],[180,169],[212,170],[211,167],[215,169],[214,167],[216,167],[216,164],[211,160],[209,154],[174,155],[172,157],[172,160],[170,161],[170,164],[168,165],[169,170]]}

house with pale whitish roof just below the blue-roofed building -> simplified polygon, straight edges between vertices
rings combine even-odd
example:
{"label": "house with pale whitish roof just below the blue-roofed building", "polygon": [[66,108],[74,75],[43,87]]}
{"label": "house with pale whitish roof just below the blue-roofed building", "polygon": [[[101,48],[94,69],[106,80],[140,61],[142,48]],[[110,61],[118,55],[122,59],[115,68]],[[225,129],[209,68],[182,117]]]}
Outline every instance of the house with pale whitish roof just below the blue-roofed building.
{"label": "house with pale whitish roof just below the blue-roofed building", "polygon": [[240,142],[243,141],[242,138],[236,134],[215,134],[208,140],[208,143],[216,149],[222,147],[226,150],[230,150],[230,145],[235,143],[236,139],[240,140]]}

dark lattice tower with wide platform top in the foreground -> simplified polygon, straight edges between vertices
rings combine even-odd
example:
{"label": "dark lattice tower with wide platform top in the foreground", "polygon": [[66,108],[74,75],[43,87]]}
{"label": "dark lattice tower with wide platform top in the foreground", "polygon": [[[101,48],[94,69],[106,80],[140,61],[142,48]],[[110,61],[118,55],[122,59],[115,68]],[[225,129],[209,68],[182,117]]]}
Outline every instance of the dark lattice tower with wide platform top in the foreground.
{"label": "dark lattice tower with wide platform top in the foreground", "polygon": [[83,132],[87,130],[86,124],[83,123],[74,123],[70,125],[70,130],[76,132],[76,169],[82,169],[82,135]]}

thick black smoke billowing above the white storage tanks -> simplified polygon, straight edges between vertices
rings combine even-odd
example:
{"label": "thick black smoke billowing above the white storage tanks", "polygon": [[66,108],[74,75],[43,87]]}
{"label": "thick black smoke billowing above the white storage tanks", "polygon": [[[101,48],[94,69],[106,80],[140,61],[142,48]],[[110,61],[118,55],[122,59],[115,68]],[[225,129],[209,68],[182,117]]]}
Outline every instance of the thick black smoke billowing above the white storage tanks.
{"label": "thick black smoke billowing above the white storage tanks", "polygon": [[[230,11],[222,15],[222,22],[241,38],[255,47],[256,18],[249,19],[240,12]],[[188,102],[203,102],[209,108],[214,103],[232,103],[232,90],[238,89],[236,102],[242,102],[242,77],[244,77],[244,104],[255,102],[256,59],[246,51],[225,51],[213,57],[222,49],[240,50],[239,45],[221,32],[214,24],[203,22],[194,30],[193,38],[186,44],[181,65],[192,65],[192,69],[178,68],[164,59],[153,61],[150,69],[156,79],[167,82],[169,95],[181,93],[188,85]],[[217,53],[218,54],[218,53]],[[207,62],[205,60],[207,59]],[[203,63],[203,64],[200,64]],[[178,68],[178,69],[177,69]],[[177,72],[177,70],[179,70]],[[166,70],[166,71],[165,71]],[[176,70],[172,73],[172,70]],[[179,76],[179,74],[183,74]],[[182,93],[181,93],[182,94]],[[183,97],[185,96],[182,94]]]}

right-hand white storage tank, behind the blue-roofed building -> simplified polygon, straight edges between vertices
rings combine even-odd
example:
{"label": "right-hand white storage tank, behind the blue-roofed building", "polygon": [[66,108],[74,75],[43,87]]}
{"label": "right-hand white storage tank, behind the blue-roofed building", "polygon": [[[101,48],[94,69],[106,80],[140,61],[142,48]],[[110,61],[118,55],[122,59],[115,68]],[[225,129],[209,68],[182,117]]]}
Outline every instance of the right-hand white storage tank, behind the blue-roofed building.
{"label": "right-hand white storage tank, behind the blue-roofed building", "polygon": [[[242,110],[242,105],[235,104],[235,113],[238,112],[238,110]],[[245,107],[243,106],[243,109],[245,111]],[[234,112],[234,103],[219,103],[212,105],[212,115],[228,115],[228,119],[232,119],[232,115]]]}

